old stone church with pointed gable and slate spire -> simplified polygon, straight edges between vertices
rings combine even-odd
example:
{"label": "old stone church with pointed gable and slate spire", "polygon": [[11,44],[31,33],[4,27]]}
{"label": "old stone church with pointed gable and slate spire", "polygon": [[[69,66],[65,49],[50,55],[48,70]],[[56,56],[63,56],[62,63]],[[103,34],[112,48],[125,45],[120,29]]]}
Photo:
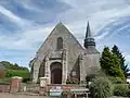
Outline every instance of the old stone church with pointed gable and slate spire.
{"label": "old stone church with pointed gable and slate spire", "polygon": [[[83,34],[83,33],[82,33]],[[31,79],[48,77],[48,84],[66,84],[76,79],[79,84],[100,70],[100,52],[95,48],[88,22],[83,47],[63,24],[58,23],[30,61]]]}

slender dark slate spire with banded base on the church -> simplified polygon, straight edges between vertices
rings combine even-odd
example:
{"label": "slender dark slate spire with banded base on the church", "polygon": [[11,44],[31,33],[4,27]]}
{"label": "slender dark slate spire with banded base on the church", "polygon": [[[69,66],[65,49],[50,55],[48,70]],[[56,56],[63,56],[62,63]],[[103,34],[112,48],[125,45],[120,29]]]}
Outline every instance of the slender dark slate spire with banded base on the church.
{"label": "slender dark slate spire with banded base on the church", "polygon": [[94,41],[94,38],[92,37],[89,22],[87,25],[87,32],[86,32],[86,38],[84,38],[84,48],[95,48],[95,41]]}

